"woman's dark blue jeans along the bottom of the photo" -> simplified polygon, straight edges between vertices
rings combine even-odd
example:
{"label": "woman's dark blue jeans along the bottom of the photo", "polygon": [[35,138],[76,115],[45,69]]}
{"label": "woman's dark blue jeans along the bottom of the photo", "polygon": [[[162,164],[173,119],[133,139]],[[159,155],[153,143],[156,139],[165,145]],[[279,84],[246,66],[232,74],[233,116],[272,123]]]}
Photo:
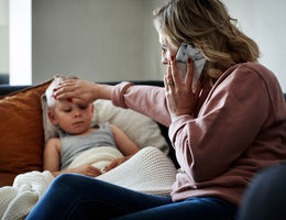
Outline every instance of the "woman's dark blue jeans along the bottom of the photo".
{"label": "woman's dark blue jeans along the bottom of the photo", "polygon": [[36,219],[233,219],[237,207],[215,197],[173,202],[170,197],[138,193],[99,179],[63,174],[28,216]]}

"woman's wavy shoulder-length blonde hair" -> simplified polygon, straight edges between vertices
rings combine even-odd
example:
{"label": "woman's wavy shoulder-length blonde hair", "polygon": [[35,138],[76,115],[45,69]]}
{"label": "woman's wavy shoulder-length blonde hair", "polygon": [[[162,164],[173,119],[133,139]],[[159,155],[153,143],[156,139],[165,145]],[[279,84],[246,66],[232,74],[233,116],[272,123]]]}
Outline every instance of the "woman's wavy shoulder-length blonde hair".
{"label": "woman's wavy shoulder-length blonde hair", "polygon": [[256,62],[256,43],[237,26],[219,0],[170,0],[154,11],[154,24],[174,45],[191,43],[208,59],[206,70],[216,81],[229,67]]}

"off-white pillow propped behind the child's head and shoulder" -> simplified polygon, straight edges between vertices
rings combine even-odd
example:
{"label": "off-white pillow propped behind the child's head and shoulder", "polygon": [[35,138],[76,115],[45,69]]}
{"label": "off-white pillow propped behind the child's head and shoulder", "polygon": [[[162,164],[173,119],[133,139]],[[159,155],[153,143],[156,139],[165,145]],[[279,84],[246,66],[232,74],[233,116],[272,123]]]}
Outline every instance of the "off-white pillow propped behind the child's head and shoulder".
{"label": "off-white pillow propped behind the child's head and shoulder", "polygon": [[[41,97],[43,109],[43,127],[45,142],[57,136],[57,128],[54,127],[47,117],[47,105],[45,95]],[[141,148],[154,146],[168,154],[168,144],[161,134],[158,124],[151,118],[138,113],[131,109],[114,107],[110,100],[96,100],[94,102],[95,113],[92,124],[110,122],[119,127]]]}

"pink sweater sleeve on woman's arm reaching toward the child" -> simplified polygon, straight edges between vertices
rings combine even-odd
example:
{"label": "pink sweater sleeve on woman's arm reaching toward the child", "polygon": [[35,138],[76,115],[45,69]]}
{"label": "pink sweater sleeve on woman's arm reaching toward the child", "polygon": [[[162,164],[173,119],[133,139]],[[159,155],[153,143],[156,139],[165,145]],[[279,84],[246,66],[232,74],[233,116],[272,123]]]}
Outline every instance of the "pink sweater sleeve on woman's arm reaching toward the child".
{"label": "pink sweater sleeve on woman's arm reaching toward the child", "polygon": [[134,86],[123,81],[113,87],[112,103],[130,108],[168,127],[170,117],[167,110],[165,90],[154,86]]}

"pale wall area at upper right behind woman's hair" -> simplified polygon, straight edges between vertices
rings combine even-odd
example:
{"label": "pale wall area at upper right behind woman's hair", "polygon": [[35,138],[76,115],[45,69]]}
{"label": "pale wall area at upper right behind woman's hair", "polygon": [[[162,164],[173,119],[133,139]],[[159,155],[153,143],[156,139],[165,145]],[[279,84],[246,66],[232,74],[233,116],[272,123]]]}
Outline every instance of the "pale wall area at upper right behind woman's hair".
{"label": "pale wall area at upper right behind woman's hair", "polygon": [[286,1],[223,0],[241,30],[260,46],[260,63],[278,78],[286,92]]}

